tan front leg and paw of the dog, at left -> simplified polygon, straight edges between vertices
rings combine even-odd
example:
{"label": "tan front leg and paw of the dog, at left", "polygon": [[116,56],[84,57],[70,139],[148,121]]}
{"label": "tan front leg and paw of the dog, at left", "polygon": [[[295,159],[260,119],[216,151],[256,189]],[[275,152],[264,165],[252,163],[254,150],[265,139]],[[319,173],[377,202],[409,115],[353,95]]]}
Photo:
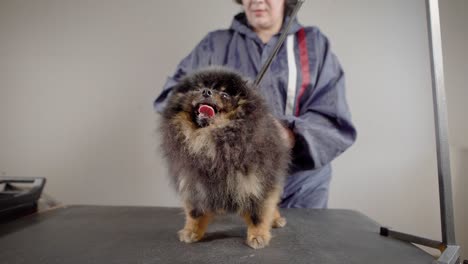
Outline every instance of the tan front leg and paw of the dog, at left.
{"label": "tan front leg and paw of the dog, at left", "polygon": [[205,235],[206,228],[213,219],[212,213],[205,213],[200,217],[193,218],[190,215],[192,208],[185,206],[185,227],[178,232],[179,240],[185,243],[193,243],[199,241]]}

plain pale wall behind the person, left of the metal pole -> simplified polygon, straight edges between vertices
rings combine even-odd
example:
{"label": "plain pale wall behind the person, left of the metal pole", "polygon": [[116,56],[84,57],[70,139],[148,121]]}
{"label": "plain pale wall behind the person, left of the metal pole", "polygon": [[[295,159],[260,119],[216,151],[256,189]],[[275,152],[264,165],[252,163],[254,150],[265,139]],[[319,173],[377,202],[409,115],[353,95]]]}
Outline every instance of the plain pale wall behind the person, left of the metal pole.
{"label": "plain pale wall behind the person, left of the metal pole", "polygon": [[[219,0],[1,1],[0,175],[45,176],[67,204],[178,205],[152,100],[238,10]],[[330,206],[440,239],[425,2],[309,0],[299,18],[330,37],[359,132],[334,162]]]}

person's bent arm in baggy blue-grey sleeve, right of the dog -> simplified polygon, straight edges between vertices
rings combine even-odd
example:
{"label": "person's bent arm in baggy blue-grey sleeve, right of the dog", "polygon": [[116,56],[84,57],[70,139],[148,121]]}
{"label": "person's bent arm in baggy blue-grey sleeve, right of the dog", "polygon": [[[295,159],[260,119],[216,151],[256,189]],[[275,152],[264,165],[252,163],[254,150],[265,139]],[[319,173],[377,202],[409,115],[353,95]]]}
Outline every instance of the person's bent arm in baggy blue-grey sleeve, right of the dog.
{"label": "person's bent arm in baggy blue-grey sleeve, right of the dog", "polygon": [[318,33],[314,45],[318,54],[317,63],[312,65],[318,67],[316,84],[306,87],[299,115],[284,117],[294,134],[294,164],[306,169],[328,164],[356,139],[346,102],[344,72],[323,35]]}

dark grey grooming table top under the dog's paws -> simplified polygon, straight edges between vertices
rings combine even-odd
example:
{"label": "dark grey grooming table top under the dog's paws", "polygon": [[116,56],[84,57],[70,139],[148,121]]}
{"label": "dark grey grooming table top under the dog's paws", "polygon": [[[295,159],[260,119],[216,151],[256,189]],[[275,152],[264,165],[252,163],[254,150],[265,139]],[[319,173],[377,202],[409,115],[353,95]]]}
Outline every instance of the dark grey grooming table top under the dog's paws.
{"label": "dark grey grooming table top under the dog's paws", "polygon": [[0,263],[432,263],[412,244],[379,235],[350,210],[285,209],[264,249],[245,244],[246,225],[221,216],[194,244],[179,242],[179,208],[69,206],[0,225]]}

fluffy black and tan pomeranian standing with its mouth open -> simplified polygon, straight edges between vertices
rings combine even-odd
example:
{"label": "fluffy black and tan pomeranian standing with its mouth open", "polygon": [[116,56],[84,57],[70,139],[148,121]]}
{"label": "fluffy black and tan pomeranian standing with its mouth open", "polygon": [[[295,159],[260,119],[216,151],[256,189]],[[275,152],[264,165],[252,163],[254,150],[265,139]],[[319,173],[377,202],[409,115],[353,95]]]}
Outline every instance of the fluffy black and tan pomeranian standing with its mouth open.
{"label": "fluffy black and tan pomeranian standing with its mouth open", "polygon": [[216,214],[237,213],[247,244],[268,245],[282,227],[277,204],[291,140],[253,83],[226,68],[196,71],[173,88],[160,125],[162,150],[184,204],[180,241],[202,239]]}

